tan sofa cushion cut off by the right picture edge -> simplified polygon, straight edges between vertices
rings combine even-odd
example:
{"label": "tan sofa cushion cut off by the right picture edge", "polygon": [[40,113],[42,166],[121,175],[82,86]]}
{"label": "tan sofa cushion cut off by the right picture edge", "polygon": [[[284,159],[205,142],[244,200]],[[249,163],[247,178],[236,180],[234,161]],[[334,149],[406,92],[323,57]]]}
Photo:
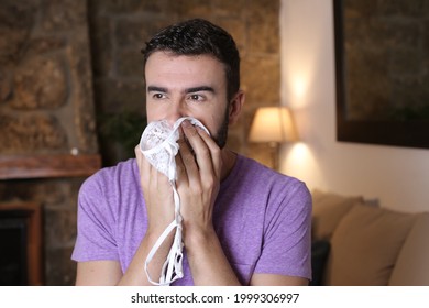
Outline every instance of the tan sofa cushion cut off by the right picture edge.
{"label": "tan sofa cushion cut off by the right picture edge", "polygon": [[389,285],[429,286],[429,213],[419,215],[400,250]]}

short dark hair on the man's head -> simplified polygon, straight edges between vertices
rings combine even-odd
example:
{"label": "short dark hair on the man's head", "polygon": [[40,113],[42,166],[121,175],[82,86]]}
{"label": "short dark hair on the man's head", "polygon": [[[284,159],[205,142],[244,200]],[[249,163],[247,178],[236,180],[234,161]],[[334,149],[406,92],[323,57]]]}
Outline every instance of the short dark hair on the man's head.
{"label": "short dark hair on the man's head", "polygon": [[144,67],[155,52],[175,55],[211,55],[226,67],[227,95],[231,100],[240,89],[240,55],[232,36],[207,20],[193,19],[173,24],[146,42]]}

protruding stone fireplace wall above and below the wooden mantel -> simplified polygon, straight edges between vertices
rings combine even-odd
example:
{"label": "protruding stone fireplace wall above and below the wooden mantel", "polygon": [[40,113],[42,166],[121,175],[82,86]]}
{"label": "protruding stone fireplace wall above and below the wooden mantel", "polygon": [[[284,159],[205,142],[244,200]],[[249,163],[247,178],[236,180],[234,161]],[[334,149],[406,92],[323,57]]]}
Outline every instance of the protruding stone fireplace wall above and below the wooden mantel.
{"label": "protruding stone fireplace wall above and below the wooden mantel", "polygon": [[[0,155],[98,153],[85,0],[0,2]],[[84,178],[0,180],[0,202],[43,207],[45,284],[70,285]]]}

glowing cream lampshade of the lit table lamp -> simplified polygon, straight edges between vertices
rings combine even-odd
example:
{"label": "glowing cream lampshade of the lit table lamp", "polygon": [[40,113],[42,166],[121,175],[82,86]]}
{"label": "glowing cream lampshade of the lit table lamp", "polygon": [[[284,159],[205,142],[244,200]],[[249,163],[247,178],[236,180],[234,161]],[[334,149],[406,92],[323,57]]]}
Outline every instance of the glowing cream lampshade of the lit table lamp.
{"label": "glowing cream lampshade of the lit table lamp", "polygon": [[256,110],[249,135],[251,142],[293,142],[298,140],[290,110],[286,107],[261,107]]}

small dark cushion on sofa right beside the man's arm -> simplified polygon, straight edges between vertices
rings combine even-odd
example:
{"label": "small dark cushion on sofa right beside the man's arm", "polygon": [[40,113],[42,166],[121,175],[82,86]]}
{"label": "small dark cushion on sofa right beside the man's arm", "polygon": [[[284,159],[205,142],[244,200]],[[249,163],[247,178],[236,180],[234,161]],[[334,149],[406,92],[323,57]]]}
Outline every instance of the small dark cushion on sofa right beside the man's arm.
{"label": "small dark cushion on sofa right beside the man's arm", "polygon": [[321,286],[324,266],[329,256],[330,243],[327,240],[317,240],[311,243],[312,279],[310,286]]}

